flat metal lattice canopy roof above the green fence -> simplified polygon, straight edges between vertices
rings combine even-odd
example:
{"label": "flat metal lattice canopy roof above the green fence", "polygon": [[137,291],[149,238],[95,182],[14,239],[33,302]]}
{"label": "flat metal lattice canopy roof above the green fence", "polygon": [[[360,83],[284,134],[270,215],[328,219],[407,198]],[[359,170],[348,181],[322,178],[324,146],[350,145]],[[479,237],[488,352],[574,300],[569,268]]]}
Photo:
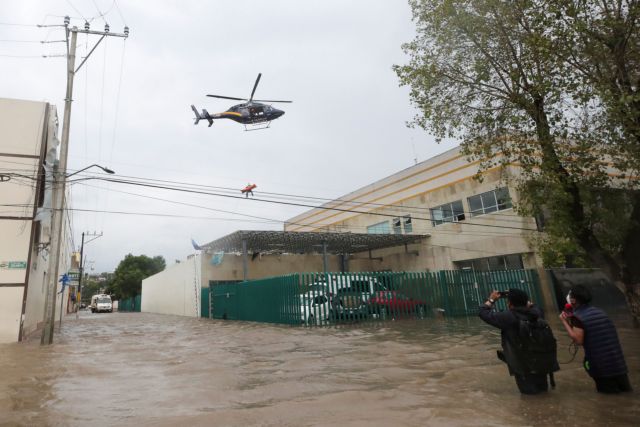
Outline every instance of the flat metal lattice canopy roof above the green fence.
{"label": "flat metal lattice canopy roof above the green fence", "polygon": [[429,234],[240,230],[207,243],[203,245],[202,249],[227,253],[325,253],[341,255],[416,243],[429,236]]}

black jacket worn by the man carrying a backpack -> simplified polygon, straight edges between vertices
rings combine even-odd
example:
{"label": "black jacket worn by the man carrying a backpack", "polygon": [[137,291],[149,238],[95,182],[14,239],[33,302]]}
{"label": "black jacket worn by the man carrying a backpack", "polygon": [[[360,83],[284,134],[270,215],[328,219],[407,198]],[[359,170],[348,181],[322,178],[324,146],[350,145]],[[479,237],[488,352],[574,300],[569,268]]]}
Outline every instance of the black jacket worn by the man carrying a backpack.
{"label": "black jacket worn by the man carrying a backpack", "polygon": [[509,374],[525,375],[527,372],[523,369],[517,346],[520,319],[529,318],[535,320],[540,317],[544,318],[542,310],[533,305],[530,308],[518,307],[512,310],[493,311],[492,307],[483,304],[480,306],[478,315],[486,323],[500,329],[503,360],[509,367]]}

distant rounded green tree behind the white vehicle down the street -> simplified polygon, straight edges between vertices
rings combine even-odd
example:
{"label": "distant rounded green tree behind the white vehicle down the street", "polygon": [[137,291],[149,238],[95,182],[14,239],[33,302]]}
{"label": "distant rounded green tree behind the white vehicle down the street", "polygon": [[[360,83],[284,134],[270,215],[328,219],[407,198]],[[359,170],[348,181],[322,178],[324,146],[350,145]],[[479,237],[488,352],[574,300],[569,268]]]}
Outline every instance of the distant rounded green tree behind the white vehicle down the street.
{"label": "distant rounded green tree behind the white vehicle down the street", "polygon": [[152,276],[166,267],[162,256],[149,258],[146,255],[128,254],[118,264],[109,288],[120,298],[131,298],[140,295],[142,280]]}

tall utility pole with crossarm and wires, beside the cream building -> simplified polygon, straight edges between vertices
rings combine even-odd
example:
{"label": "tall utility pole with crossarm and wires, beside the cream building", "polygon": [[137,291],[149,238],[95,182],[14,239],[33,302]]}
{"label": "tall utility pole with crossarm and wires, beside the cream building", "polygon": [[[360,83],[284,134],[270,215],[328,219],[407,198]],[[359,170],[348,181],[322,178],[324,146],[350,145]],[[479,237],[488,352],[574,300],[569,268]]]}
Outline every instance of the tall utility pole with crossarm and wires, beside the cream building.
{"label": "tall utility pole with crossarm and wires, beside the cream building", "polygon": [[[71,120],[71,102],[73,101],[73,78],[78,72],[80,67],[89,59],[89,56],[98,47],[100,42],[107,36],[124,37],[129,36],[129,27],[124,27],[124,33],[110,33],[109,24],[105,24],[104,31],[92,31],[89,28],[89,23],[85,22],[84,30],[79,30],[77,27],[69,28],[70,18],[64,17],[64,28],[66,32],[67,41],[67,92],[64,99],[64,122],[62,124],[62,136],[60,139],[60,162],[53,167],[53,197],[52,206],[53,211],[51,214],[51,254],[49,256],[48,267],[48,280],[49,286],[47,288],[47,295],[45,297],[45,310],[44,310],[44,326],[42,328],[42,338],[40,339],[41,345],[47,345],[53,343],[53,332],[55,325],[55,304],[56,293],[58,290],[58,275],[60,267],[60,249],[62,243],[63,234],[63,218],[64,218],[64,206],[65,206],[65,192],[66,192],[66,173],[67,173],[67,156],[69,152],[69,130]],[[100,35],[100,40],[96,42],[91,51],[87,54],[84,60],[80,63],[78,68],[74,70],[76,62],[76,42],[78,39],[78,33],[95,34]],[[69,43],[69,34],[71,34],[71,43]]]}

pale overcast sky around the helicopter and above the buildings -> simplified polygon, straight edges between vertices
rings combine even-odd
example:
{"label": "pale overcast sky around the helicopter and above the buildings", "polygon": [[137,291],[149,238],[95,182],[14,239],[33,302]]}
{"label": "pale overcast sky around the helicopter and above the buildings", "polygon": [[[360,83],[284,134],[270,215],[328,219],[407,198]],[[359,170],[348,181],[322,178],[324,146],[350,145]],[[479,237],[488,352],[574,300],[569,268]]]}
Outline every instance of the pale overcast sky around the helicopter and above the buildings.
{"label": "pale overcast sky around the helicopter and above the buildings", "polygon": [[[64,30],[34,25],[62,24],[64,15],[78,27],[87,20],[102,30],[106,21],[112,32],[131,31],[126,42],[105,39],[76,76],[70,172],[97,163],[116,177],[238,195],[251,182],[256,197],[337,198],[454,145],[406,126],[415,110],[391,69],[406,62],[401,45],[414,36],[405,1],[0,0],[0,97],[49,102],[61,122],[65,60],[39,56],[62,54],[64,44],[39,41],[62,40]],[[78,57],[98,39],[79,35]],[[256,98],[294,101],[276,105],[286,114],[270,129],[193,125],[191,104],[224,111],[235,102],[205,95],[248,97],[258,73]],[[72,188],[74,209],[98,211],[74,211],[72,221],[78,248],[83,231],[103,233],[85,246],[95,273],[113,271],[128,253],[162,255],[170,265],[194,252],[191,238],[282,229],[210,209],[279,221],[307,210],[100,180]]]}

